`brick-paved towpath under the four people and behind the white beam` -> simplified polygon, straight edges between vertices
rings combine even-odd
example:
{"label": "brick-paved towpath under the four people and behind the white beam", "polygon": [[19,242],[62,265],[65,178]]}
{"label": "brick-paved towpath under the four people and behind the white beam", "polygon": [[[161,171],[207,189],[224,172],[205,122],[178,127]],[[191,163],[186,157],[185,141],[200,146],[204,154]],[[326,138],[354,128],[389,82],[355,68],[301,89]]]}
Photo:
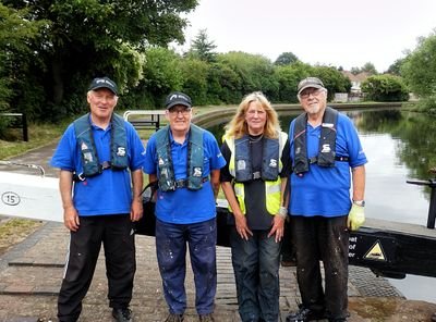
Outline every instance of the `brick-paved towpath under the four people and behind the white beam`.
{"label": "brick-paved towpath under the four people and behind the white beam", "polygon": [[[56,176],[57,172],[47,166],[55,147],[56,145],[50,145],[36,149],[14,158],[13,161],[41,164],[47,175]],[[0,171],[23,172],[23,169],[11,166]],[[69,233],[61,223],[46,222],[23,243],[0,257],[0,321],[57,321],[57,295],[63,274],[68,239]],[[167,306],[162,296],[153,237],[136,236],[136,260],[137,271],[131,304],[134,319],[136,322],[164,321]],[[217,264],[216,321],[240,321],[229,248],[217,248]],[[104,253],[100,253],[80,321],[112,321],[105,274]],[[294,268],[280,269],[280,310],[284,317],[288,311],[295,310],[300,302]],[[197,321],[190,269],[186,293],[189,307],[185,321]],[[349,296],[352,322],[428,321],[432,312],[436,311],[434,304],[404,300],[385,278],[376,277],[363,268],[350,267]],[[378,311],[375,311],[377,309]]]}

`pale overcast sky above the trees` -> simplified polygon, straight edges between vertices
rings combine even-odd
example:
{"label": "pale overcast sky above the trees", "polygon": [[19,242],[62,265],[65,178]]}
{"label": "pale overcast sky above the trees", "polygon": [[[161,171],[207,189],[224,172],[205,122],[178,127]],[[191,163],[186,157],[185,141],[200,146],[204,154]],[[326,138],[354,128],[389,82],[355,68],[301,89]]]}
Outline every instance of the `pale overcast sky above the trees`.
{"label": "pale overcast sky above the trees", "polygon": [[186,44],[207,29],[218,52],[240,50],[271,61],[293,52],[310,64],[386,71],[417,37],[436,28],[436,0],[199,0],[187,15]]}

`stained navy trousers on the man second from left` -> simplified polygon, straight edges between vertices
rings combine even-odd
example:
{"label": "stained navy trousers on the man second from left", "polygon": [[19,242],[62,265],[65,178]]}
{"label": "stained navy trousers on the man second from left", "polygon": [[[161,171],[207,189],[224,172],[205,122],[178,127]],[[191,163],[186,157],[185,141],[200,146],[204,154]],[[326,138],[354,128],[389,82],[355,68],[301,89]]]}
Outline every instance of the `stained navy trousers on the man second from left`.
{"label": "stained navy trousers on the man second from left", "polygon": [[156,252],[169,311],[182,314],[186,309],[186,244],[195,282],[195,308],[198,314],[214,312],[217,289],[216,219],[193,224],[171,224],[156,220]]}

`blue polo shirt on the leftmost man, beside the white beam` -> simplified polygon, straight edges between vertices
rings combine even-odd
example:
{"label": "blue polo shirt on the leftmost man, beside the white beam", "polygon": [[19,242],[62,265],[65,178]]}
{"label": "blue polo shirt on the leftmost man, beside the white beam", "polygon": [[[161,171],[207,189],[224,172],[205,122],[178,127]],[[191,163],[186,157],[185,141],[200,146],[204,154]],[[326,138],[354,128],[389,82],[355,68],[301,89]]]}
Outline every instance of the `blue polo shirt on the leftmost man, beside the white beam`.
{"label": "blue polo shirt on the leftmost man, beside the white beam", "polygon": [[[136,131],[124,122],[128,140],[129,169],[142,169],[145,148]],[[111,126],[102,129],[92,124],[92,132],[100,163],[110,161]],[[81,151],[70,124],[51,158],[50,164],[61,170],[82,173]],[[131,176],[129,170],[105,170],[101,174],[74,183],[73,202],[80,215],[130,213],[132,205]]]}

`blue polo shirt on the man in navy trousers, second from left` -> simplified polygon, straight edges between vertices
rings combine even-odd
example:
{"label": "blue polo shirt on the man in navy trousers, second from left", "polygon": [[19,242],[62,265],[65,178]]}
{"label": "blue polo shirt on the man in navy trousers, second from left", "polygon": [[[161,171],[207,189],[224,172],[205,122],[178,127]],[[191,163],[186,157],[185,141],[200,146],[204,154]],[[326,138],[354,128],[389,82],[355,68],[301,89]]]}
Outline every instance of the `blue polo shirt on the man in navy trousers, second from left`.
{"label": "blue polo shirt on the man in navy trousers, second from left", "polygon": [[[171,145],[171,158],[173,162],[175,179],[187,178],[187,143],[181,145],[174,141],[169,132]],[[218,170],[226,165],[226,160],[219,150],[217,140],[210,132],[203,132],[204,147],[204,176],[208,176],[211,170]],[[156,150],[156,136],[153,135],[147,143],[144,171],[148,174],[158,174],[158,158]],[[211,218],[217,213],[214,190],[210,181],[203,184],[198,190],[179,188],[174,191],[157,191],[156,216],[167,223],[192,224]]]}

